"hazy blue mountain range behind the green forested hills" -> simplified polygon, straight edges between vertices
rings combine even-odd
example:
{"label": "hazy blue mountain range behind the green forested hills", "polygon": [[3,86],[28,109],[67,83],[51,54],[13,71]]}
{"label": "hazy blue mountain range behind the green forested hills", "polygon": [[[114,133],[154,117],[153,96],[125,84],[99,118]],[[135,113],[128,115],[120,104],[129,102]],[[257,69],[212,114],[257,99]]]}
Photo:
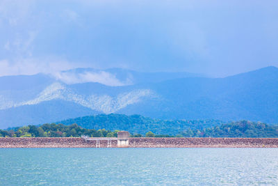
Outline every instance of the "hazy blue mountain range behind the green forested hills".
{"label": "hazy blue mountain range behind the green forested hills", "polygon": [[0,128],[93,114],[278,123],[278,68],[225,78],[77,68],[0,77]]}

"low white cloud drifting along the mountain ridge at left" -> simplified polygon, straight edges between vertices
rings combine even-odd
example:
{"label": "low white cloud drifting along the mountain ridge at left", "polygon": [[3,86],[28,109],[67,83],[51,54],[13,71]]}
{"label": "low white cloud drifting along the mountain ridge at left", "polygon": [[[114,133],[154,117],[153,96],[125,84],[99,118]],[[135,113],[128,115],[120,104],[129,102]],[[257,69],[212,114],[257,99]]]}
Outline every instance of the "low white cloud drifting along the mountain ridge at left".
{"label": "low white cloud drifting along the mountain ridge at left", "polygon": [[[76,66],[78,65],[78,66]],[[70,63],[63,59],[49,58],[44,59],[17,59],[16,62],[6,59],[0,61],[0,77],[6,75],[35,75],[40,72],[50,74],[57,80],[65,84],[79,84],[85,82],[97,82],[107,86],[124,86],[132,84],[130,79],[120,81],[115,75],[105,70],[97,70],[96,72],[74,72],[63,71],[77,67],[88,67],[80,63]]]}

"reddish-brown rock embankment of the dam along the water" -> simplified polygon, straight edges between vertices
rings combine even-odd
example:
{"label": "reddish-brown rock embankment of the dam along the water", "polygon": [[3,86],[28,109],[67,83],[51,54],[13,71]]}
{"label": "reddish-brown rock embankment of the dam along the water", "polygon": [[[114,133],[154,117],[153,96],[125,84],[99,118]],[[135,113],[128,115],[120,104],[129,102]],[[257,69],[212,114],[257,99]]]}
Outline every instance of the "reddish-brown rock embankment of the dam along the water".
{"label": "reddish-brown rock embankment of the dam along the water", "polygon": [[[117,147],[113,139],[112,147]],[[107,140],[100,140],[107,147]],[[95,148],[96,141],[81,138],[0,138],[0,148]],[[278,148],[278,138],[129,138],[131,148],[268,147]]]}

